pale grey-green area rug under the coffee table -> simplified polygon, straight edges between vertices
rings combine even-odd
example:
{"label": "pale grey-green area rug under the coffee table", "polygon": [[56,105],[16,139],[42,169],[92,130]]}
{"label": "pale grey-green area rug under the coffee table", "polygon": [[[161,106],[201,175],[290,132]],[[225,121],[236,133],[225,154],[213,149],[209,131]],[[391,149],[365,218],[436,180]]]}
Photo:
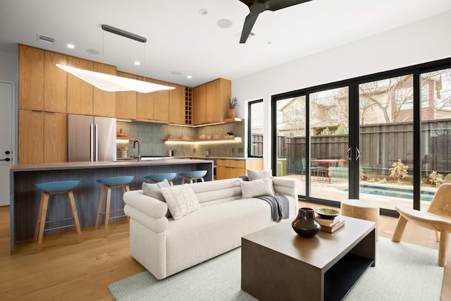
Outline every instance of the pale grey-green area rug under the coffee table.
{"label": "pale grey-green area rug under the coffee table", "polygon": [[[240,288],[241,250],[158,281],[148,271],[111,283],[116,300],[256,300]],[[344,300],[440,300],[438,250],[379,238],[370,267]]]}

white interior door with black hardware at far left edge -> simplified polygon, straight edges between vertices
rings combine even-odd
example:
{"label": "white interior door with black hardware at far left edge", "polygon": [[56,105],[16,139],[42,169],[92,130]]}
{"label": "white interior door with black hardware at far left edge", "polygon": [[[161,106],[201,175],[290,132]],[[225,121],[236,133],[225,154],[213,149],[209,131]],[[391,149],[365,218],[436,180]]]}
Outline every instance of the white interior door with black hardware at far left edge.
{"label": "white interior door with black hardware at far left edge", "polygon": [[14,84],[0,81],[0,206],[9,205],[9,169],[13,166]]}

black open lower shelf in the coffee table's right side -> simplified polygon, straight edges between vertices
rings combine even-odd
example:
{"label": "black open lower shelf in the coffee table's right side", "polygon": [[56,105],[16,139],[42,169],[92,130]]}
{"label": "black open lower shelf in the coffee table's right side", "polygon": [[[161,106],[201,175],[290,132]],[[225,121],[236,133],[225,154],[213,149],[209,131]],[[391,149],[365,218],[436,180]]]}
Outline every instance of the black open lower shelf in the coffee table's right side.
{"label": "black open lower shelf in the coffee table's right side", "polygon": [[346,254],[324,274],[324,300],[342,300],[374,260]]}

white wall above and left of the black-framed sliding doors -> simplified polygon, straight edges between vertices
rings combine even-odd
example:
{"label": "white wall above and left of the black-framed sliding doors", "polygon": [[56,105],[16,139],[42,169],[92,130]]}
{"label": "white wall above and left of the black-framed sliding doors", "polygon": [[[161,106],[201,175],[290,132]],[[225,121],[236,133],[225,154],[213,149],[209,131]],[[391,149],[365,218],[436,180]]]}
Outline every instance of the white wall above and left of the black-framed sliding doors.
{"label": "white wall above and left of the black-framed sliding doors", "polygon": [[451,11],[233,80],[237,117],[264,99],[264,168],[271,168],[271,95],[451,57]]}

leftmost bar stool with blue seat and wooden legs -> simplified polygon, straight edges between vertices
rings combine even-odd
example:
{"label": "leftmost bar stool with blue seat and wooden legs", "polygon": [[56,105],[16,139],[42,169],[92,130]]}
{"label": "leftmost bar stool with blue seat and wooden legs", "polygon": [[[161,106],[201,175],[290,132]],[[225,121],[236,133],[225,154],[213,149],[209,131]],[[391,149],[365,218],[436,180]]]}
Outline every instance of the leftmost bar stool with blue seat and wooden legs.
{"label": "leftmost bar stool with blue seat and wooden legs", "polygon": [[[35,227],[35,241],[37,240],[37,252],[42,250],[42,238],[44,237],[44,231],[54,230],[57,228],[65,228],[70,226],[75,226],[78,233],[78,242],[82,242],[82,231],[80,229],[80,222],[78,221],[77,207],[75,206],[75,199],[73,197],[73,189],[80,184],[79,180],[67,180],[58,182],[47,182],[47,183],[37,183],[36,188],[42,190],[41,201],[39,202],[39,211],[37,214],[36,227]],[[56,227],[56,228],[45,228],[47,208],[49,205],[50,195],[57,195],[60,193],[67,193],[69,196],[70,209],[72,209],[74,224]],[[63,221],[65,219],[56,220]],[[55,221],[47,221],[51,223]]]}

